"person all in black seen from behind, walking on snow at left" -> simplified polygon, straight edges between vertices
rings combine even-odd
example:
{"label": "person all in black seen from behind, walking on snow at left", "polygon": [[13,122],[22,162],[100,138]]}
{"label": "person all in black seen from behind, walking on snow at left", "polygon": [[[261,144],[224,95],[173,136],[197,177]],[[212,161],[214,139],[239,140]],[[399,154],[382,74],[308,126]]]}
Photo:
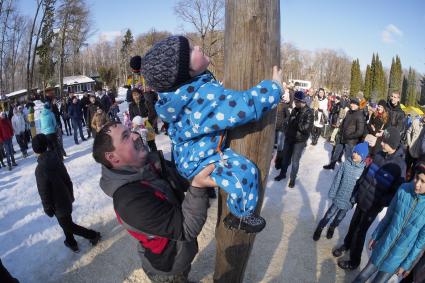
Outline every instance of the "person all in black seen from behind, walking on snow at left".
{"label": "person all in black seen from behind, walking on snow at left", "polygon": [[44,212],[49,216],[56,216],[59,225],[65,234],[64,244],[74,252],[79,252],[74,234],[82,236],[96,245],[100,240],[100,233],[75,224],[72,221],[72,203],[74,191],[71,178],[65,165],[53,151],[47,150],[47,138],[38,134],[33,138],[32,148],[38,155],[35,178],[38,193]]}

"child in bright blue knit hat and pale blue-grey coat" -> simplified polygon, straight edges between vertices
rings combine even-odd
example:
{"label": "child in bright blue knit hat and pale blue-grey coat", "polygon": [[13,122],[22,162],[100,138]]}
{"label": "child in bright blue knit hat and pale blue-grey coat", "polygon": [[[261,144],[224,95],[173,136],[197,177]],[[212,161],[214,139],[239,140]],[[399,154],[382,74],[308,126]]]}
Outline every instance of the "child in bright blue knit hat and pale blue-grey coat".
{"label": "child in bright blue knit hat and pale blue-grey coat", "polygon": [[366,166],[365,159],[368,156],[368,153],[368,144],[365,142],[359,143],[353,148],[351,158],[345,160],[341,164],[341,167],[339,167],[328,193],[332,204],[328,208],[328,211],[326,211],[325,216],[317,225],[317,228],[314,231],[313,240],[319,240],[322,230],[335,216],[326,234],[326,238],[331,239],[335,228],[338,227],[347,212],[353,207],[351,196],[354,186]]}

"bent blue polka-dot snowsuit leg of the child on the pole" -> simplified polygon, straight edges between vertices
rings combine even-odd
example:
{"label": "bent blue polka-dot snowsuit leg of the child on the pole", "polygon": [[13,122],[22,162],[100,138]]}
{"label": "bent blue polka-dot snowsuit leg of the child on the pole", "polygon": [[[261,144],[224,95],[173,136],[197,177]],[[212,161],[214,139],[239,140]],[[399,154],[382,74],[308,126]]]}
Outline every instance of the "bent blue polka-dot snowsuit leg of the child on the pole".
{"label": "bent blue polka-dot snowsuit leg of the child on the pole", "polygon": [[230,149],[223,152],[225,162],[216,162],[211,174],[217,185],[228,193],[227,206],[237,217],[252,213],[258,201],[258,169],[246,157]]}

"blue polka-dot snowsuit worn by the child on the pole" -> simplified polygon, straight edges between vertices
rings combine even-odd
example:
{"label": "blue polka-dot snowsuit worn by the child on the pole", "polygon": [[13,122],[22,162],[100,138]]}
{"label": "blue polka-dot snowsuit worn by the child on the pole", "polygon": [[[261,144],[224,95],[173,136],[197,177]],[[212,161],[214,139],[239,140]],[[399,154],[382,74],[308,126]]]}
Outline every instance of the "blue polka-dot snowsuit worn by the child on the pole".
{"label": "blue polka-dot snowsuit worn by the child on the pole", "polygon": [[155,108],[169,123],[177,170],[191,179],[214,163],[211,177],[228,193],[227,205],[237,217],[246,216],[257,205],[258,169],[246,157],[224,148],[224,142],[221,157],[220,136],[226,129],[259,120],[277,106],[280,94],[279,84],[273,81],[262,81],[247,91],[224,89],[208,73],[174,92],[159,93]]}

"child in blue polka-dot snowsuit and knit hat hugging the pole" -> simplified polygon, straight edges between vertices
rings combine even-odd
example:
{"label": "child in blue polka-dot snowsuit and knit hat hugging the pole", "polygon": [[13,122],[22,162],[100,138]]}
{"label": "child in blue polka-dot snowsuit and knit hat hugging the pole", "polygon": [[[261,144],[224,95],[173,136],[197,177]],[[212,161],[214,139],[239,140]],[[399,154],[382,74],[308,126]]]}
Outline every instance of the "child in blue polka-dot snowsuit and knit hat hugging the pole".
{"label": "child in blue polka-dot snowsuit and knit hat hugging the pole", "polygon": [[[135,64],[135,61],[140,63]],[[147,84],[158,92],[155,109],[169,123],[173,157],[179,173],[191,179],[213,163],[212,179],[228,193],[227,227],[257,233],[265,220],[253,212],[258,201],[259,173],[246,157],[224,147],[226,129],[261,119],[281,96],[281,72],[247,91],[225,89],[207,71],[209,58],[187,38],[171,36],[155,44],[141,65]]]}

